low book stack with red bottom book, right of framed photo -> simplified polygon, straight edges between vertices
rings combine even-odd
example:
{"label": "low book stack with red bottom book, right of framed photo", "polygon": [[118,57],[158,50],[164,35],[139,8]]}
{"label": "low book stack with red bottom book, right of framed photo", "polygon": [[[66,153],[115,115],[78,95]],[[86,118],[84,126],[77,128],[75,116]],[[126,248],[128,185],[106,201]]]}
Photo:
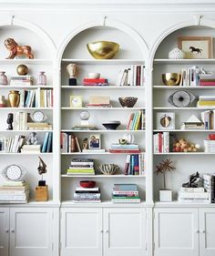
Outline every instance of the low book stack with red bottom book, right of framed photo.
{"label": "low book stack with red bottom book, right of framed photo", "polygon": [[109,149],[110,153],[140,153],[138,144],[118,144],[112,143]]}

